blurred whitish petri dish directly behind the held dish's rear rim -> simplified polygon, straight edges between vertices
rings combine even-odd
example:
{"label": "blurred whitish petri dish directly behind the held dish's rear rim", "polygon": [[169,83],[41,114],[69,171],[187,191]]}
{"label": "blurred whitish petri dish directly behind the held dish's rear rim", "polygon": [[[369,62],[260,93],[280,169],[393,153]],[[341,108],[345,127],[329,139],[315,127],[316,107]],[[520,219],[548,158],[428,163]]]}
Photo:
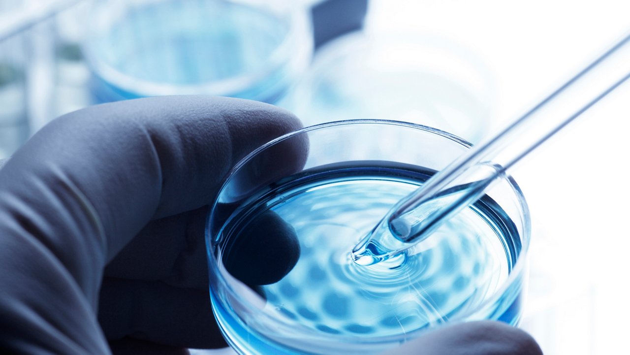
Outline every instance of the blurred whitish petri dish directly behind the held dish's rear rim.
{"label": "blurred whitish petri dish directly behind the held dish's rear rim", "polygon": [[495,84],[474,52],[428,35],[354,32],[324,45],[280,105],[305,125],[389,119],[478,143],[493,115]]}

